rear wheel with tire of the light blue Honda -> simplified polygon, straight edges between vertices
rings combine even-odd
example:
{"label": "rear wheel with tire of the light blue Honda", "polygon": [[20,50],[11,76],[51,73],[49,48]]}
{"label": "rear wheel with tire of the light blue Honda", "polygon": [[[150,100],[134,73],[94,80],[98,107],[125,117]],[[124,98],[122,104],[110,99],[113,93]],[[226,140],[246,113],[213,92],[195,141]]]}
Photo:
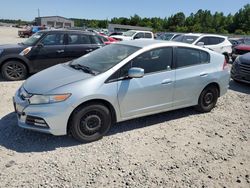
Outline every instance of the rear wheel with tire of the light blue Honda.
{"label": "rear wheel with tire of the light blue Honda", "polygon": [[207,86],[200,94],[196,110],[199,112],[210,112],[216,105],[219,92],[215,86]]}

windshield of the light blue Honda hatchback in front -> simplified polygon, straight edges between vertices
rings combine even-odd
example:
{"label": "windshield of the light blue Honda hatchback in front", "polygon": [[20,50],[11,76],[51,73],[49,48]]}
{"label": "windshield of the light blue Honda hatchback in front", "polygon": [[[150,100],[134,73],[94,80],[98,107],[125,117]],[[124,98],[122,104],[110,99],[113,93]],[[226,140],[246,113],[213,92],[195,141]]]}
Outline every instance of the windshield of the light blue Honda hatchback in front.
{"label": "windshield of the light blue Honda hatchback in front", "polygon": [[102,73],[139,49],[139,47],[135,46],[111,44],[74,60],[70,65],[79,64],[88,67],[92,71]]}

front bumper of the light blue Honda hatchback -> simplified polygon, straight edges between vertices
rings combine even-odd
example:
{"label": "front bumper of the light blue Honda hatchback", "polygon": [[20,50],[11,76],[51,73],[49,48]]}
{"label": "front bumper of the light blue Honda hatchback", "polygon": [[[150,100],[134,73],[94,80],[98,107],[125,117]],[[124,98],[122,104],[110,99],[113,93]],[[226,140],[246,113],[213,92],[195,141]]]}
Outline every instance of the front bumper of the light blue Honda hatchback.
{"label": "front bumper of the light blue Honda hatchback", "polygon": [[13,97],[13,104],[19,127],[53,135],[67,134],[67,123],[73,107],[66,101],[30,105],[27,100],[19,96],[17,91]]}

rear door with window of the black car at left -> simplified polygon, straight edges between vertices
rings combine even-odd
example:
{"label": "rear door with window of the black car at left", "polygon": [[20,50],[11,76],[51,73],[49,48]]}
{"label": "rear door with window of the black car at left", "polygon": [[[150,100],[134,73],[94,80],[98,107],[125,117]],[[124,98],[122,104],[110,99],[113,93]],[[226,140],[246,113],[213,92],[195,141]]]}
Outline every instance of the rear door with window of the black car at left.
{"label": "rear door with window of the black car at left", "polygon": [[92,52],[99,48],[101,43],[100,39],[95,39],[92,35],[81,33],[67,34],[65,53],[68,61]]}

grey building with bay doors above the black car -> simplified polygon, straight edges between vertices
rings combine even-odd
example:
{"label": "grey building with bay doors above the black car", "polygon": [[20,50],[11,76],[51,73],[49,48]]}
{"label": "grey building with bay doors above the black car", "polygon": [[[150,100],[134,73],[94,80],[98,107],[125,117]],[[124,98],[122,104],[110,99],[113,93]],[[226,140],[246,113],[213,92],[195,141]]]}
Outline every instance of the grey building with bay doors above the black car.
{"label": "grey building with bay doors above the black car", "polygon": [[44,16],[35,18],[36,25],[45,25],[54,28],[74,27],[74,21],[61,16]]}

